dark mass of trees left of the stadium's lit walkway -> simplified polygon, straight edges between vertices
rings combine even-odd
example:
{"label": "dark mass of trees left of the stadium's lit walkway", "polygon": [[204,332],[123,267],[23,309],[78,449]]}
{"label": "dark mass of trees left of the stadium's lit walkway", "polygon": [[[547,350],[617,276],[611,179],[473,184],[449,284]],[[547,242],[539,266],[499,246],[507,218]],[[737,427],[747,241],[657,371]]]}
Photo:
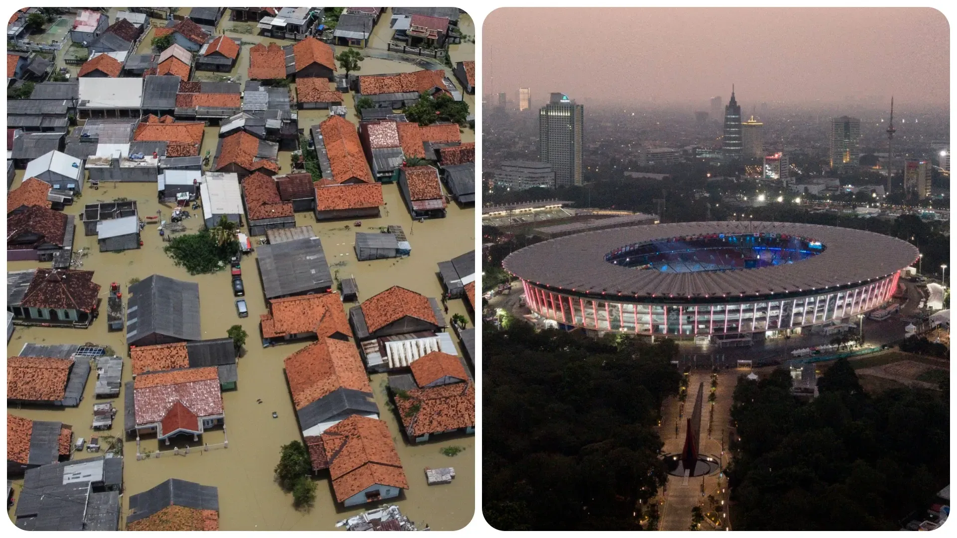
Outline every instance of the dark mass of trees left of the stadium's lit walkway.
{"label": "dark mass of trees left of the stadium's lit walkway", "polygon": [[[483,507],[501,530],[638,530],[665,482],[657,418],[672,341],[512,324],[484,335]],[[647,504],[644,504],[647,506]]]}

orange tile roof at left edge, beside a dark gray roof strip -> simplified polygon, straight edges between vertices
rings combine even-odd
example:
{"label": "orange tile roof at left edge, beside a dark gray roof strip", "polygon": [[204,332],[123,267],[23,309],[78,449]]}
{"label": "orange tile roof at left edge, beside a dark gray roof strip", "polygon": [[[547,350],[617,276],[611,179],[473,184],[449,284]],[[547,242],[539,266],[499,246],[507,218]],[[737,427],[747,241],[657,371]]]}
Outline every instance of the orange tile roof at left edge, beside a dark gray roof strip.
{"label": "orange tile roof at left edge, beside a dark gray roof strip", "polygon": [[73,359],[10,357],[7,359],[7,399],[57,401],[66,394]]}

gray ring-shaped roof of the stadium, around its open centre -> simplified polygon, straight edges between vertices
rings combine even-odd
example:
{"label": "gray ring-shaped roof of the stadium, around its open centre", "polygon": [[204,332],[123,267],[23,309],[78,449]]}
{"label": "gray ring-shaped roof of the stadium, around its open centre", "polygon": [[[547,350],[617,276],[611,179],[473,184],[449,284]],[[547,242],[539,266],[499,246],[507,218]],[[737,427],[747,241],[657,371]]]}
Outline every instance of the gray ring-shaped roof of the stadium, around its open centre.
{"label": "gray ring-shaped roof of the stadium, around its open centre", "polygon": [[[795,263],[722,272],[662,273],[605,261],[620,247],[683,235],[787,234],[820,241],[823,253]],[[860,230],[786,222],[684,222],[567,235],[523,248],[502,262],[524,280],[579,293],[623,297],[743,297],[812,292],[878,279],[907,267],[917,249]]]}

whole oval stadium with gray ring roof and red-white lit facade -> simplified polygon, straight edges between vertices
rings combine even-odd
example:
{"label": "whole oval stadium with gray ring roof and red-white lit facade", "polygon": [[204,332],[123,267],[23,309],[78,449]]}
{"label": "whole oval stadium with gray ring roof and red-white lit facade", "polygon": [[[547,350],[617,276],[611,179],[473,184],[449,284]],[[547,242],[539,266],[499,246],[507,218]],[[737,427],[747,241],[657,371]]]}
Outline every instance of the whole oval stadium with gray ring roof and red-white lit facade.
{"label": "whole oval stadium with gray ring roof and red-white lit facade", "polygon": [[564,328],[733,340],[877,309],[917,258],[905,241],[859,230],[684,222],[550,239],[502,266],[528,307]]}

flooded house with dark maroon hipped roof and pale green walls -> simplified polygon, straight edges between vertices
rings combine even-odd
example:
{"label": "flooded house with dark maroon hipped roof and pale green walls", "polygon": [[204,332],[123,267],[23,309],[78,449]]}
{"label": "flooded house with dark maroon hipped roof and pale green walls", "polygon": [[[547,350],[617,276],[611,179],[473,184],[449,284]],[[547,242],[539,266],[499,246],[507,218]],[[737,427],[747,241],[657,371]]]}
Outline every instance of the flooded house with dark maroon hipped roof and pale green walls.
{"label": "flooded house with dark maroon hipped roof and pale green walls", "polygon": [[7,311],[14,324],[86,328],[99,307],[93,271],[38,267],[7,273]]}

